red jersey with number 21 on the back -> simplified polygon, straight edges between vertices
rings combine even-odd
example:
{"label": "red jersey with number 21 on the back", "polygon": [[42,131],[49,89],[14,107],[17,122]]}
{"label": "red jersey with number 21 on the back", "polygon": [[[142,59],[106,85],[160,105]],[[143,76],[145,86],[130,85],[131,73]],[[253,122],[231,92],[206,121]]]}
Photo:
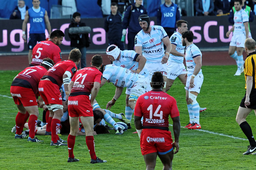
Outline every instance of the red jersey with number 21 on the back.
{"label": "red jersey with number 21 on the back", "polygon": [[71,81],[74,85],[69,96],[90,95],[94,82],[101,82],[102,73],[95,67],[86,67],[76,72]]}

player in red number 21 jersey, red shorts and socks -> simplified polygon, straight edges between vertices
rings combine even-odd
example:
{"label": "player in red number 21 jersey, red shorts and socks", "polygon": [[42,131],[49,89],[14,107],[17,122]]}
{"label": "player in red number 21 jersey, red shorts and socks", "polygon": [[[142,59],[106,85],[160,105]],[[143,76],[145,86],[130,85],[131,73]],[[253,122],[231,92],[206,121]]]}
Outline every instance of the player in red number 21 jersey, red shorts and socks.
{"label": "player in red number 21 jersey, red shorts and socks", "polygon": [[[94,55],[92,57],[91,67],[85,67],[76,72],[68,85],[70,92],[68,98],[68,114],[70,122],[70,133],[68,135],[68,162],[76,162],[73,154],[76,133],[79,129],[79,117],[85,129],[86,145],[91,156],[91,163],[104,163],[96,157],[95,144],[93,138],[93,102],[96,98],[102,79],[102,73],[99,71],[102,67],[102,57]],[[91,99],[89,95],[91,94]]]}

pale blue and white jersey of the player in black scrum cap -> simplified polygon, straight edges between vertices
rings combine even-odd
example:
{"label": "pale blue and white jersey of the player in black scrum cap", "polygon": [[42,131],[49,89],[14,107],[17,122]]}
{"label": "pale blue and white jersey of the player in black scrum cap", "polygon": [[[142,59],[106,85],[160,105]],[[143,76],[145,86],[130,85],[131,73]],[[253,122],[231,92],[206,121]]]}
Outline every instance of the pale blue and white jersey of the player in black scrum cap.
{"label": "pale blue and white jersey of the player in black scrum cap", "polygon": [[164,56],[164,43],[162,39],[167,37],[164,28],[152,25],[151,32],[141,30],[134,39],[135,46],[142,46],[142,55],[146,57],[146,63],[159,63]]}

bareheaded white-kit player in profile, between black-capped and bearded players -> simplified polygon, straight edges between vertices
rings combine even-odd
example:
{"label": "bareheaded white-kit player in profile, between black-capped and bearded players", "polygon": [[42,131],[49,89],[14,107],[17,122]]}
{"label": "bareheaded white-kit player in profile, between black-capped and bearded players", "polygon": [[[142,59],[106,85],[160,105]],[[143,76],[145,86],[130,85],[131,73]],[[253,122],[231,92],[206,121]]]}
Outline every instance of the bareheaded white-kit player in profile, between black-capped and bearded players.
{"label": "bareheaded white-kit player in profile, between black-capped and bearded players", "polygon": [[[188,22],[184,20],[178,20],[176,22],[178,31],[173,33],[170,37],[172,51],[170,53],[168,62],[167,62],[167,82],[166,82],[166,91],[172,87],[172,83],[178,77],[180,81],[186,86],[187,74],[186,67],[183,64],[185,58],[184,48],[181,41],[181,33],[188,31]],[[200,112],[206,110],[207,108],[201,108]]]}

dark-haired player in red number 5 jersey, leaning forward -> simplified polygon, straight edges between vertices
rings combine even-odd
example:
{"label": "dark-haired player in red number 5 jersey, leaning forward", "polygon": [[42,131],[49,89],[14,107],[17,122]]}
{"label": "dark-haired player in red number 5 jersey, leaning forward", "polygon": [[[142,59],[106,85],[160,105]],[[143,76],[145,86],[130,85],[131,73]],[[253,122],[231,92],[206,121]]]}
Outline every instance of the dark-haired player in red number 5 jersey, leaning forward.
{"label": "dark-haired player in red number 5 jersey, leaning forward", "polygon": [[47,41],[40,41],[33,48],[32,61],[29,66],[38,66],[44,58],[50,58],[54,64],[61,61],[59,45],[62,43],[65,34],[60,30],[54,30]]}

